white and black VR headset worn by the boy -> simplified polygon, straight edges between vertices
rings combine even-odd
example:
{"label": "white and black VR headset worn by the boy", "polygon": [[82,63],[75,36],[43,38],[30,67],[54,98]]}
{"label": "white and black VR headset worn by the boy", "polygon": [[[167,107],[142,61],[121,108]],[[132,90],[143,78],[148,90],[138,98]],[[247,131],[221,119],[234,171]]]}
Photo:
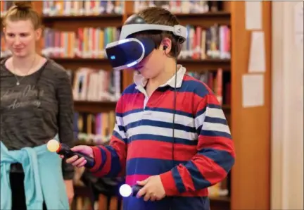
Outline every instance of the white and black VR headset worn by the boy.
{"label": "white and black VR headset worn by the boy", "polygon": [[182,43],[186,40],[187,30],[182,25],[168,26],[147,24],[143,18],[133,15],[130,16],[125,25],[122,26],[120,39],[106,45],[106,55],[114,70],[122,70],[137,65],[141,60],[146,58],[153,49],[155,44],[151,38],[130,37],[134,33],[146,30],[160,30],[172,32]]}

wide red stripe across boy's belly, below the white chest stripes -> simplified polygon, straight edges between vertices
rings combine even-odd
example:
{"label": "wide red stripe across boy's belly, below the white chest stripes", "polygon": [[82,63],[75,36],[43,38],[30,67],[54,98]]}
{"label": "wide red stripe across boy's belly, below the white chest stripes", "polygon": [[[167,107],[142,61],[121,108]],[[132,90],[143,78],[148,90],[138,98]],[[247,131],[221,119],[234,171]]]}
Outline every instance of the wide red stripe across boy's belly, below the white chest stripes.
{"label": "wide red stripe across boy's belly, below the white chest stripes", "polygon": [[[196,145],[175,144],[174,152],[176,161],[189,161],[197,150]],[[133,141],[128,145],[127,160],[134,158],[170,160],[172,159],[172,143],[153,140]]]}

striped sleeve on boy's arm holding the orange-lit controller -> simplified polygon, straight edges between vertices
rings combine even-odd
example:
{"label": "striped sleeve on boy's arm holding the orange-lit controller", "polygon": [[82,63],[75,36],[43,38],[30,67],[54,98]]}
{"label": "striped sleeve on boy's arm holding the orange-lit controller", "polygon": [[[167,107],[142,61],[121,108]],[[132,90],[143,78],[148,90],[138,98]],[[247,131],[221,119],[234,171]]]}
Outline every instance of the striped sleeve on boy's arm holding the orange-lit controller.
{"label": "striped sleeve on boy's arm holding the orange-lit controller", "polygon": [[127,137],[122,121],[122,102],[116,105],[116,123],[109,146],[92,147],[95,165],[90,169],[97,177],[118,177],[125,175],[127,159]]}

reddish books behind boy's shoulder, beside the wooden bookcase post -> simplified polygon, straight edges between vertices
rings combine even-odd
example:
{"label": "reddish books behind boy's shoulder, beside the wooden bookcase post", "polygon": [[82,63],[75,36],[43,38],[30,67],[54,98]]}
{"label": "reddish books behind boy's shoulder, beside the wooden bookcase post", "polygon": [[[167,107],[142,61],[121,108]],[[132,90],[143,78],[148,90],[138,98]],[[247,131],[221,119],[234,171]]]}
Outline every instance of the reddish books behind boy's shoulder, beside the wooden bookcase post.
{"label": "reddish books behind boy's shoulder, beside the wooden bookcase post", "polygon": [[[188,75],[205,82],[208,87],[215,93],[220,104],[229,105],[231,95],[231,85],[229,81],[223,82],[223,71],[219,68],[216,72],[205,71],[204,73],[187,72]],[[224,88],[223,88],[224,85]]]}

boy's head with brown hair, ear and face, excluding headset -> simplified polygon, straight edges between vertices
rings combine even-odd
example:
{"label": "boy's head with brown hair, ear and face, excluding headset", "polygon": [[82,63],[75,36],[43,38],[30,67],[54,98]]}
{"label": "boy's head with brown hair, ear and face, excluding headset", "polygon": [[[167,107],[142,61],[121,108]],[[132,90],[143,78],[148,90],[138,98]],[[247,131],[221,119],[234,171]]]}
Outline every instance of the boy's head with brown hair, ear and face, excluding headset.
{"label": "boy's head with brown hair, ear and face, excluding headset", "polygon": [[[146,8],[137,15],[148,24],[179,25],[177,18],[164,8]],[[168,63],[175,63],[175,57],[179,55],[182,48],[181,40],[175,37],[172,32],[147,30],[137,32],[130,37],[149,37],[155,44],[155,49],[151,54],[133,67],[147,79],[156,78],[165,70]]]}

